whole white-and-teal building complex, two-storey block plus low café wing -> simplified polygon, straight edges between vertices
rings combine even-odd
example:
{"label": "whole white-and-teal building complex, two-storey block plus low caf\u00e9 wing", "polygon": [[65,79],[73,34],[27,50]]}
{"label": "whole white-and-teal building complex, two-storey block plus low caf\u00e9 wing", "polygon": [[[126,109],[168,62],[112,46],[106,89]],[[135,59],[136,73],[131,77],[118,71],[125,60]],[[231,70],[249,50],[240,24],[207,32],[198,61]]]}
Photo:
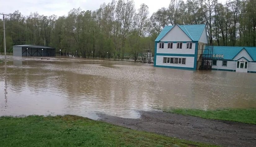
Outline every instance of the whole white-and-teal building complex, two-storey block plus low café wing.
{"label": "whole white-and-teal building complex, two-storey block plus low caf\u00e9 wing", "polygon": [[155,39],[154,66],[256,72],[256,47],[208,45],[204,24],[165,26]]}

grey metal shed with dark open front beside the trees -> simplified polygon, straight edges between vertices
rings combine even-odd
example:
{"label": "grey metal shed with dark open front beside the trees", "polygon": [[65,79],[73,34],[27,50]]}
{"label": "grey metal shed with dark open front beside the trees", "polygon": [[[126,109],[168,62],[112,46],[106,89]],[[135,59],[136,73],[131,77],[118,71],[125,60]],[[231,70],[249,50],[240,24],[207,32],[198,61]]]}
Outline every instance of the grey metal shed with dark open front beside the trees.
{"label": "grey metal shed with dark open front beside the trees", "polygon": [[[43,49],[43,50],[42,50]],[[13,45],[13,56],[55,57],[56,49],[43,45]]]}

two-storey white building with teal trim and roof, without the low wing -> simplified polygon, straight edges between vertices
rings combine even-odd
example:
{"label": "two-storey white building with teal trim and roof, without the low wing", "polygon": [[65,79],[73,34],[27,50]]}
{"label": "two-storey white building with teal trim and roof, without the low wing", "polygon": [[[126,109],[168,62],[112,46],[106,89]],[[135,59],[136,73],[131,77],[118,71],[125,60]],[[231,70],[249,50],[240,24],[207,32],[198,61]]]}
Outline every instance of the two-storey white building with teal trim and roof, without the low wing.
{"label": "two-storey white building with teal trim and roof, without the low wing", "polygon": [[206,44],[204,24],[165,26],[155,39],[154,66],[199,69]]}

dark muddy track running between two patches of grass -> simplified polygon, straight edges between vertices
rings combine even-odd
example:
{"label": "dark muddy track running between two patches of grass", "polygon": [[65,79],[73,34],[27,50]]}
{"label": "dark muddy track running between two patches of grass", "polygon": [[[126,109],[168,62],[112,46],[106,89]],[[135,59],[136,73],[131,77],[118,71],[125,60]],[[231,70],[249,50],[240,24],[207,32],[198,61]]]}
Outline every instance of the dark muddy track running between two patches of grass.
{"label": "dark muddy track running between two patches of grass", "polygon": [[256,146],[256,125],[140,111],[140,119],[100,114],[101,120],[131,129],[223,146]]}

